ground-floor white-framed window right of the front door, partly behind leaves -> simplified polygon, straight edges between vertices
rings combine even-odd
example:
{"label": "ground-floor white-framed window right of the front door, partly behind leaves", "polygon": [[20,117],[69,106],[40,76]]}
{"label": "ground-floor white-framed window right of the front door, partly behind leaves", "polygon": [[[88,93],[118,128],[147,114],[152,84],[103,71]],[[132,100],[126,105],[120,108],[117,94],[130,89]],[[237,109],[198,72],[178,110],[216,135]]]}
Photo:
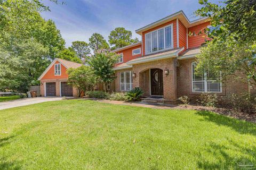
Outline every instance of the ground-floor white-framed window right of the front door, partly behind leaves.
{"label": "ground-floor white-framed window right of the front door, partly behind leaves", "polygon": [[221,92],[221,83],[211,73],[196,73],[196,64],[192,63],[192,88],[193,92]]}

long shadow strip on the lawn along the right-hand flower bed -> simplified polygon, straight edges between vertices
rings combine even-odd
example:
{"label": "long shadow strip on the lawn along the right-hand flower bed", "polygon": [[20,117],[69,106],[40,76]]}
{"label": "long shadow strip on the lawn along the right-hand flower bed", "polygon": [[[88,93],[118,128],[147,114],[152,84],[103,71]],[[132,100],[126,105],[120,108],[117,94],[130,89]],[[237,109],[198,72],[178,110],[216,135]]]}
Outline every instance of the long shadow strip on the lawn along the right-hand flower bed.
{"label": "long shadow strip on the lawn along the right-hand flower bed", "polygon": [[235,118],[218,115],[209,111],[198,111],[197,115],[204,116],[205,121],[214,122],[218,125],[228,126],[240,134],[252,134],[256,136],[256,124]]}

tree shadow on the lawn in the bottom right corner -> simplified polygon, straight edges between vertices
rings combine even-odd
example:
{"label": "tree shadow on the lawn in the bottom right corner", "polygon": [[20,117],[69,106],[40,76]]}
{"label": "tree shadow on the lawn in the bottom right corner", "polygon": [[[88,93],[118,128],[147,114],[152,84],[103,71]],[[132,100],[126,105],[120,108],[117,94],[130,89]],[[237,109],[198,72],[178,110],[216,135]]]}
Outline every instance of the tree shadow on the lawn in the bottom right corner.
{"label": "tree shadow on the lawn in the bottom right corner", "polygon": [[256,169],[256,147],[249,149],[234,141],[228,141],[227,146],[211,142],[205,151],[200,151],[198,168]]}

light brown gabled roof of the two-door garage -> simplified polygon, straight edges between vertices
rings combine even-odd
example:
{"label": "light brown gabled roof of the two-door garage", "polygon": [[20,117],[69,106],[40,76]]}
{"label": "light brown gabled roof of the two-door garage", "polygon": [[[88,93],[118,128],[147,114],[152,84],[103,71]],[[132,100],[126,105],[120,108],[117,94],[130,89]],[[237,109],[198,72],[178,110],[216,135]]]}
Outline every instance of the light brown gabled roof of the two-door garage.
{"label": "light brown gabled roof of the two-door garage", "polygon": [[41,80],[44,75],[51,69],[51,67],[53,66],[53,64],[55,64],[55,62],[59,62],[60,64],[62,64],[63,66],[66,67],[66,69],[69,69],[69,68],[78,68],[80,66],[82,66],[83,64],[79,64],[79,63],[75,63],[75,62],[70,62],[70,61],[67,61],[67,60],[63,60],[63,59],[60,59],[60,58],[55,58],[52,63],[45,69],[45,71],[40,75],[40,77],[37,79],[37,80]]}

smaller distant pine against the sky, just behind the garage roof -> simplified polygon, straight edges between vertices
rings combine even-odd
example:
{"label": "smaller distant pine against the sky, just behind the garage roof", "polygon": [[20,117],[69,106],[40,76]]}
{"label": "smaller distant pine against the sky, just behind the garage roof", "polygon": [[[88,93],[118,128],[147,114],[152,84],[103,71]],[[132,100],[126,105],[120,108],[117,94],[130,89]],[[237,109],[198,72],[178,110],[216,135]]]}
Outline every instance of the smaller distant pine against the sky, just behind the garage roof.
{"label": "smaller distant pine against the sky, just behind the garage roof", "polygon": [[80,60],[86,60],[87,56],[91,53],[89,44],[84,41],[74,41],[72,42],[71,47],[76,52],[76,55]]}

